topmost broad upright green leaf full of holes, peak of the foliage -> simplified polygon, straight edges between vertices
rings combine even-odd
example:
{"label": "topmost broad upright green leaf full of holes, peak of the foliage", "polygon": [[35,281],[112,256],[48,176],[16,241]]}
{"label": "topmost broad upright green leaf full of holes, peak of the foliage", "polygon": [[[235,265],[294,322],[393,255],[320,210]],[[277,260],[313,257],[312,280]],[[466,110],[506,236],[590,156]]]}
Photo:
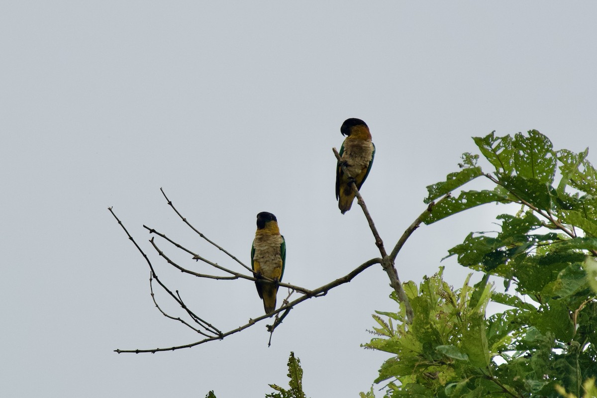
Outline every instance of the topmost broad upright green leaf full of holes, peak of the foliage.
{"label": "topmost broad upright green leaf full of holes, peak of the foliage", "polygon": [[550,185],[556,172],[557,159],[552,141],[537,130],[528,132],[528,137],[518,133],[513,147],[518,150],[514,156],[514,166],[519,177],[537,180]]}

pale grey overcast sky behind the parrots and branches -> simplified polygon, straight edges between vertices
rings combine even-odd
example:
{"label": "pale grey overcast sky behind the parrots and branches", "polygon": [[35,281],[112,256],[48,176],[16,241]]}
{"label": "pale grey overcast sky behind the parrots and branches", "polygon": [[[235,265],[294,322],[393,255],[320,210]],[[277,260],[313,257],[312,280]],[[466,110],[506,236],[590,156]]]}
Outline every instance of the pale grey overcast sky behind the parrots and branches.
{"label": "pale grey overcast sky behind the parrots and branches", "polygon": [[[147,265],[108,206],[196,313],[236,328],[263,313],[253,283],[185,276],[147,241],[143,224],[241,270],[160,187],[245,263],[256,214],[272,212],[285,282],[316,288],[378,256],[360,208],[341,215],[334,199],[344,119],[371,129],[362,194],[391,248],[425,187],[475,151],[470,137],[538,129],[556,149],[596,147],[596,39],[595,2],[0,1],[0,395],[263,397],[287,385],[294,351],[308,396],[358,396],[389,357],[359,346],[374,310],[397,309],[381,267],[295,308],[270,348],[262,322],[116,354],[200,337],[153,306]],[[401,279],[435,273],[501,211],[421,227]],[[442,264],[461,285],[467,270]]]}

